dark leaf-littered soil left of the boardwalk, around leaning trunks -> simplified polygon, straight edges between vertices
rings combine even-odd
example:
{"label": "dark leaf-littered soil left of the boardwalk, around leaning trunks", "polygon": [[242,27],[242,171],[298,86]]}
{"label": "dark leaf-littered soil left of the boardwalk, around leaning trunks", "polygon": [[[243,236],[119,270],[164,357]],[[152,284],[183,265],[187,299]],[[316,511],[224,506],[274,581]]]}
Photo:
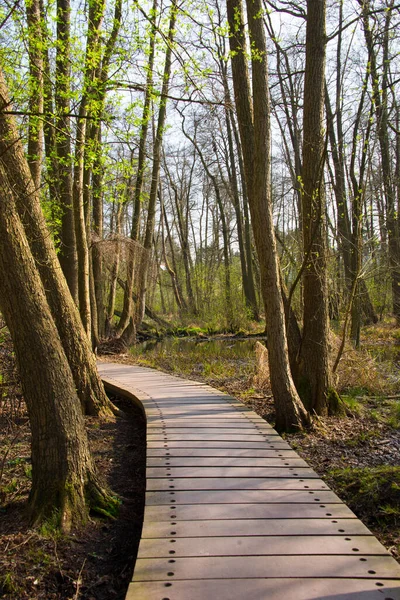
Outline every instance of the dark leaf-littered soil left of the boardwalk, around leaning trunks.
{"label": "dark leaf-littered soil left of the boardwalk, around leaning trunks", "polygon": [[[15,400],[15,399],[14,399]],[[122,600],[140,541],[145,492],[145,423],[131,403],[115,399],[126,418],[87,419],[99,474],[121,500],[115,520],[93,518],[61,536],[51,524],[30,529],[30,434],[19,414],[1,405],[0,597],[9,600]],[[15,402],[10,402],[15,410]],[[17,436],[17,437],[16,437]],[[10,444],[7,456],[4,451]],[[3,460],[2,460],[3,459]]]}

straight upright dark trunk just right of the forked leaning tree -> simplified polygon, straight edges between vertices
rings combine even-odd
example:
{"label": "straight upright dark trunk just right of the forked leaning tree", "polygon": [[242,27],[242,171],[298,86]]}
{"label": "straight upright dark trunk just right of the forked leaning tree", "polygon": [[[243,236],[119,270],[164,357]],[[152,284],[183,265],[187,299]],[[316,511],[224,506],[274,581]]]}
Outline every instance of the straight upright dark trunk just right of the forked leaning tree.
{"label": "straight upright dark trunk just right of the forked leaning tree", "polygon": [[329,364],[329,310],[325,228],[323,114],[325,97],[325,0],[307,1],[303,111],[302,214],[303,340],[298,389],[308,410],[335,409]]}

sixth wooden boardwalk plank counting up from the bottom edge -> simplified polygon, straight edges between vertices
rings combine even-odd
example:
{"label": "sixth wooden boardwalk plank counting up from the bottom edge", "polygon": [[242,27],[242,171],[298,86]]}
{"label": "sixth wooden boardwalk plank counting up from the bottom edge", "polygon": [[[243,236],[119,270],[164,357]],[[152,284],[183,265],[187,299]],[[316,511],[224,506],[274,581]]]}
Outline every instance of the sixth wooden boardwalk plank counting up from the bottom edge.
{"label": "sixth wooden boardwalk plank counting up from the bottom edge", "polygon": [[170,504],[342,504],[331,491],[307,490],[193,490],[146,492],[146,505]]}

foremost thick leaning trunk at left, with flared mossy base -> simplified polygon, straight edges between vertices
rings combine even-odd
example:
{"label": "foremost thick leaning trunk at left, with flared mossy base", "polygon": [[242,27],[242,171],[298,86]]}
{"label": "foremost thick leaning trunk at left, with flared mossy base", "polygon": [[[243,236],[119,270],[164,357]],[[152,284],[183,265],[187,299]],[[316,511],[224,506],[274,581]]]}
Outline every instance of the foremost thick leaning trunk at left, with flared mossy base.
{"label": "foremost thick leaning trunk at left, with flared mossy base", "polygon": [[109,499],[97,482],[75,382],[3,164],[0,181],[0,308],[31,425],[30,516],[36,524],[58,511],[59,524],[68,530],[86,521],[92,502],[105,508]]}

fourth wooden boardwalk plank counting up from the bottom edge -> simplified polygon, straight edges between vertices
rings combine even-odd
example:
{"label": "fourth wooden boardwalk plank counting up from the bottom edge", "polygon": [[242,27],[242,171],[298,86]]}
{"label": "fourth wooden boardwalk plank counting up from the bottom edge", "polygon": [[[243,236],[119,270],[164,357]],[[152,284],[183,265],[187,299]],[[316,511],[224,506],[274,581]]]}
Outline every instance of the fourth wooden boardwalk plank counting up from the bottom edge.
{"label": "fourth wooden boardwalk plank counting up from the bottom edge", "polygon": [[[171,531],[175,533],[172,535]],[[235,520],[206,519],[203,521],[176,521],[174,528],[171,521],[151,521],[145,519],[142,538],[166,538],[171,540],[191,537],[247,537],[257,535],[329,535],[352,536],[370,535],[372,533],[361,521],[352,515],[348,519],[244,519],[243,515]],[[227,541],[229,546],[229,540]],[[172,547],[172,546],[171,546]]]}

